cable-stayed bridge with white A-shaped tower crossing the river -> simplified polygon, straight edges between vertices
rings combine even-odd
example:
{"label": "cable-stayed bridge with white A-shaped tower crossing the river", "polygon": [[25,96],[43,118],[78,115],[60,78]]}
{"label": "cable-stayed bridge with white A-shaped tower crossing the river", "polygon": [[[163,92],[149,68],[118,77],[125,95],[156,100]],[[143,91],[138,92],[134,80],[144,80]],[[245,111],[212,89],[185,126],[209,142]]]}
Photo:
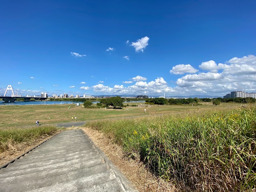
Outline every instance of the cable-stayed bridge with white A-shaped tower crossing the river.
{"label": "cable-stayed bridge with white A-shaped tower crossing the river", "polygon": [[[4,89],[4,88],[5,87],[3,87],[1,89]],[[26,97],[26,96],[22,95],[20,92],[19,92],[20,95],[17,95],[18,91],[16,89],[14,89],[16,91],[16,94],[14,94],[13,89],[14,88],[12,88],[12,85],[8,85],[7,88],[6,88],[6,91],[4,93],[4,96],[0,96],[0,99],[3,99],[4,102],[14,102],[17,99],[24,99],[24,101],[30,101],[30,99],[34,99],[34,100],[46,100],[47,99],[46,97],[40,97],[40,96],[37,96],[37,97]],[[8,90],[12,91],[12,96],[6,96],[6,93],[7,93]]]}

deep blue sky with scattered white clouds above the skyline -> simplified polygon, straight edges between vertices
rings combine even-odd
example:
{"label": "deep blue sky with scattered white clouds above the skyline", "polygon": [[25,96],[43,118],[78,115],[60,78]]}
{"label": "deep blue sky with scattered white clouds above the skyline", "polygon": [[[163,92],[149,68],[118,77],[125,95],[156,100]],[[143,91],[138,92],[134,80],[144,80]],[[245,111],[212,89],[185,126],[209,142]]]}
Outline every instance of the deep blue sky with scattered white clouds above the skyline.
{"label": "deep blue sky with scattered white clouds above the skyline", "polygon": [[0,88],[23,95],[256,92],[255,6],[1,1]]}

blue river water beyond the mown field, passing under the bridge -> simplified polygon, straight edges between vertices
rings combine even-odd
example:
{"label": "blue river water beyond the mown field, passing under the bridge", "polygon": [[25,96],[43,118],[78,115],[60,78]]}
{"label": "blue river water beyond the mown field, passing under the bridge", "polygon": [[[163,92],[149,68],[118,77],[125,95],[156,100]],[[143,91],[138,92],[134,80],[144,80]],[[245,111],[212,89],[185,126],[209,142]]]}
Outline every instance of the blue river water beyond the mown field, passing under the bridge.
{"label": "blue river water beyond the mown field, passing under the bridge", "polygon": [[[92,101],[92,103],[99,103],[100,101]],[[144,103],[145,101],[124,101],[124,103]],[[0,101],[0,105],[60,105],[60,104],[83,104],[83,101],[15,101],[4,102]]]}

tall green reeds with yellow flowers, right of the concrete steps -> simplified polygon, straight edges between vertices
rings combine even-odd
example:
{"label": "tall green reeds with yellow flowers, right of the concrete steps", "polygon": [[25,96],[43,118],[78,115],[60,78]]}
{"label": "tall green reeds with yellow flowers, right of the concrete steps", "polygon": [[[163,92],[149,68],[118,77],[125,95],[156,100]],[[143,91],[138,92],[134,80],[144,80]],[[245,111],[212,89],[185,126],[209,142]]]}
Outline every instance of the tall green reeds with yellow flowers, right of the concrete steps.
{"label": "tall green reeds with yellow flowers, right of the concrete steps", "polygon": [[[256,110],[90,122],[132,158],[186,191],[250,191],[256,185]],[[254,189],[255,190],[255,189]]]}

